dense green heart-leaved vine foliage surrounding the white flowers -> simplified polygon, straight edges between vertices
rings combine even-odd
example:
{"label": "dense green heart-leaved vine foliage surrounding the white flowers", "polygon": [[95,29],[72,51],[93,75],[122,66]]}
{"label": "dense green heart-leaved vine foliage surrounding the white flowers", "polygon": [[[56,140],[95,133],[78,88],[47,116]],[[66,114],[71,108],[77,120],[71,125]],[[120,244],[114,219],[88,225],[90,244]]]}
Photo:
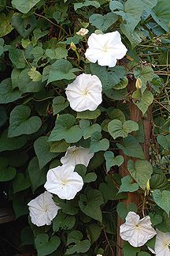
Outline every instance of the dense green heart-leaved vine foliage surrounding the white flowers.
{"label": "dense green heart-leaved vine foliage surrounding the white flowers", "polygon": [[[25,216],[21,246],[35,247],[39,256],[112,255],[117,215],[124,220],[130,210],[170,232],[169,9],[169,0],[0,0],[0,182],[16,221]],[[80,28],[88,34],[77,35]],[[118,30],[128,49],[113,68],[85,58],[96,30]],[[102,81],[95,111],[73,111],[65,96],[80,73]],[[142,122],[131,120],[131,101],[142,119],[153,104],[150,160],[142,149]],[[94,152],[87,168],[76,166],[83,190],[71,201],[54,195],[61,210],[53,224],[38,228],[28,202],[45,190],[46,172],[61,165],[70,145]],[[122,178],[124,155],[129,172]],[[119,202],[127,192],[140,195],[139,209]],[[128,251],[132,256],[140,248],[124,243],[125,256]]]}

